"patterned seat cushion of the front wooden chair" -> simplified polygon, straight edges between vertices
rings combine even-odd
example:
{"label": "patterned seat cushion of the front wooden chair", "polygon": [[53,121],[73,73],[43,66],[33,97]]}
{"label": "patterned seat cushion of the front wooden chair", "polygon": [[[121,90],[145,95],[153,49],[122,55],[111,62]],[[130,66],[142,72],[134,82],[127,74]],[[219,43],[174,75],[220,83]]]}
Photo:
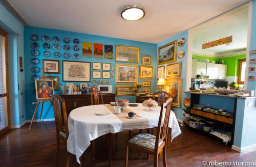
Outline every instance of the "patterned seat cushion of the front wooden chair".
{"label": "patterned seat cushion of the front wooden chair", "polygon": [[[148,133],[137,133],[135,134],[130,140],[128,140],[129,143],[154,150],[155,149],[155,143],[156,143],[156,136]],[[159,146],[162,144],[162,142],[159,143]]]}

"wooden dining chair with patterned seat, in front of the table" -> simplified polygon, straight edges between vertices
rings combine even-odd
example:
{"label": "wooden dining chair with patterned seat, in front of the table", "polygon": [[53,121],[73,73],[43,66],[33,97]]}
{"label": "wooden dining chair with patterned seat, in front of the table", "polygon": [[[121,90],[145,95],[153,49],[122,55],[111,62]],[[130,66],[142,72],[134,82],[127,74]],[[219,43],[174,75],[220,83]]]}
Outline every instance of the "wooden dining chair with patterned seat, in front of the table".
{"label": "wooden dining chair with patterned seat, in front of the table", "polygon": [[[158,155],[163,151],[163,166],[166,167],[166,144],[168,135],[168,125],[170,109],[172,108],[173,98],[169,98],[166,103],[161,104],[161,111],[158,121],[157,135],[148,133],[137,133],[125,142],[125,164],[127,167],[129,157],[129,147],[154,156],[154,167],[158,166]],[[165,112],[163,108],[166,108]],[[163,117],[164,115],[164,117]],[[163,120],[163,126],[162,125]]]}

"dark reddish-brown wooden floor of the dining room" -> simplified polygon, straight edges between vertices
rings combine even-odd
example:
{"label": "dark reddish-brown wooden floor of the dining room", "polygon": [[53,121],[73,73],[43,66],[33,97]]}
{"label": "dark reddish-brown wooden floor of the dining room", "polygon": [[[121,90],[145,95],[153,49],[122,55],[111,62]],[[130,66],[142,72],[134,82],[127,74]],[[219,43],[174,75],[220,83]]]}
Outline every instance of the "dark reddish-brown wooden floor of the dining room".
{"label": "dark reddish-brown wooden floor of the dining room", "polygon": [[[20,129],[12,129],[0,137],[0,166],[65,166],[66,146],[61,145],[59,164],[55,164],[55,124],[53,121],[33,123]],[[225,147],[221,142],[215,141],[202,134],[182,128],[182,134],[168,142],[168,166],[202,166],[202,161],[254,161],[256,150],[238,153]],[[136,132],[136,131],[133,131]],[[118,148],[113,147],[113,166],[124,165],[124,141],[128,132],[118,133]],[[113,146],[115,137],[113,135]],[[96,140],[96,160],[91,160],[91,148],[82,155],[83,166],[107,166],[108,150],[105,141]],[[130,151],[129,166],[153,166],[153,158],[147,160],[137,158],[137,151]],[[162,165],[160,154],[159,166]],[[75,156],[71,155],[70,166],[78,166]]]}

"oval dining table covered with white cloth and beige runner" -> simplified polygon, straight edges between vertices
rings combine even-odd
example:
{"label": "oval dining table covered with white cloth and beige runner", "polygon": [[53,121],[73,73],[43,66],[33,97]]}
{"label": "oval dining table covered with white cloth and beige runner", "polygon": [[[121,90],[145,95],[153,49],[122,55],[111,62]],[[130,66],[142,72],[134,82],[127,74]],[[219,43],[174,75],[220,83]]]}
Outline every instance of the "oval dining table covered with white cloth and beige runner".
{"label": "oval dining table covered with white cloth and beige runner", "polygon": [[[76,155],[76,160],[78,163],[80,163],[79,157],[90,146],[90,141],[93,141],[102,135],[108,134],[108,159],[109,166],[111,166],[112,133],[118,133],[124,130],[155,128],[158,126],[161,110],[160,106],[148,109],[147,107],[144,107],[142,103],[134,104],[138,105],[124,107],[125,109],[120,115],[115,114],[113,109],[110,108],[111,106],[109,104],[88,105],[73,109],[68,117],[68,152]],[[163,111],[165,112],[165,108],[163,108]],[[136,117],[133,120],[126,117],[121,117],[121,115],[127,115],[128,112],[134,112],[139,117]],[[130,120],[133,122],[130,123]],[[139,126],[139,122],[141,121],[143,121],[143,126]],[[137,125],[132,126],[135,124]],[[173,111],[170,113],[169,128],[171,128],[172,141],[181,133],[178,121]]]}

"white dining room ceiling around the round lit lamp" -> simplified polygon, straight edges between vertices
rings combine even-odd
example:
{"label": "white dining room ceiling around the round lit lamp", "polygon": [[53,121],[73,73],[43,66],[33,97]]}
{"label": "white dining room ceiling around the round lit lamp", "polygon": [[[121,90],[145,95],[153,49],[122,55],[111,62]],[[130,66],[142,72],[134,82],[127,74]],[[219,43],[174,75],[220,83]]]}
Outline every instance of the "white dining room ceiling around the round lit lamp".
{"label": "white dining room ceiling around the round lit lamp", "polygon": [[[31,26],[158,43],[249,0],[8,0]],[[145,10],[138,21],[121,11],[137,5]]]}

